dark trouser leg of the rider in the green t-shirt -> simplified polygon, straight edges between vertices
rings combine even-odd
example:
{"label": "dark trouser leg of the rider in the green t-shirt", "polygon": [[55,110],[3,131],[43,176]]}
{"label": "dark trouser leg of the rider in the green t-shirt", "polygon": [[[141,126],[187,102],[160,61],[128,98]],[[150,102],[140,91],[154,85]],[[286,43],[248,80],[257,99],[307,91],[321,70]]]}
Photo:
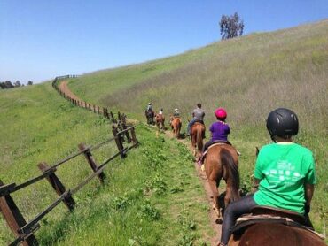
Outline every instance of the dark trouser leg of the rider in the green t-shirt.
{"label": "dark trouser leg of the rider in the green t-shirt", "polygon": [[241,197],[240,200],[233,202],[227,206],[223,216],[223,227],[221,234],[221,242],[224,245],[228,244],[231,228],[235,225],[238,217],[245,213],[250,213],[257,204],[254,201],[253,195]]}

